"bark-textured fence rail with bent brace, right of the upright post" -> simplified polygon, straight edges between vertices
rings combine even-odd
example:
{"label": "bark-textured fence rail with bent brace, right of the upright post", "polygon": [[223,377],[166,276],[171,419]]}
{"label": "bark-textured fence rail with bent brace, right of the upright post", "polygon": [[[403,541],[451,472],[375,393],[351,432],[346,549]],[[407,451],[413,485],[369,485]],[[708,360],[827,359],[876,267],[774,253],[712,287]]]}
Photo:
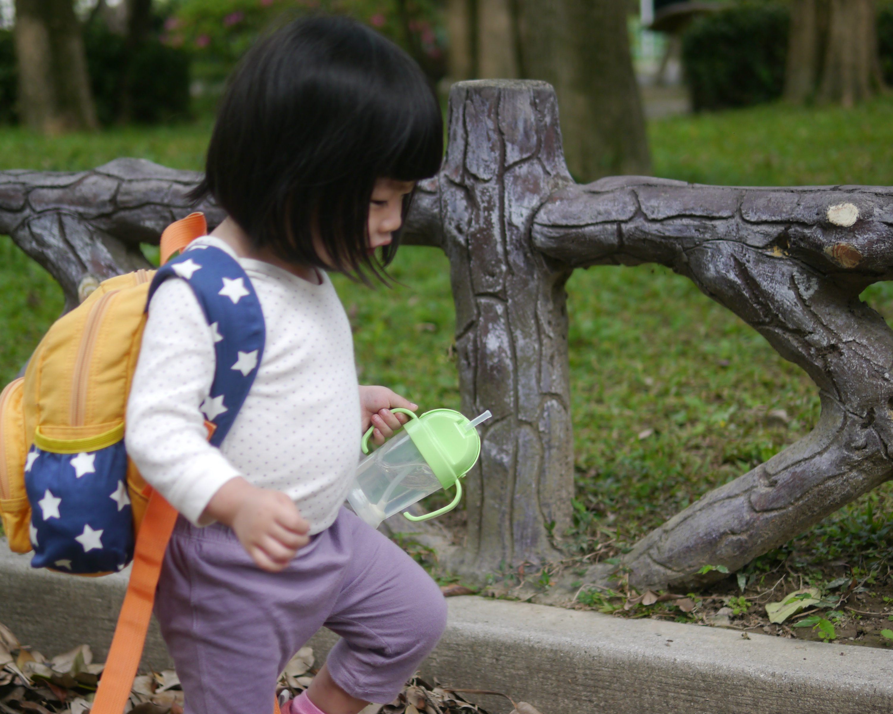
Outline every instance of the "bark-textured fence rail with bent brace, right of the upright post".
{"label": "bark-textured fence rail with bent brace, right of the upright post", "polygon": [[[893,332],[859,300],[893,276],[893,189],[707,187],[638,177],[566,187],[533,242],[573,265],[660,262],[758,330],[819,386],[814,430],[643,538],[637,585],[739,569],[893,475]],[[604,567],[592,572],[603,579]]]}

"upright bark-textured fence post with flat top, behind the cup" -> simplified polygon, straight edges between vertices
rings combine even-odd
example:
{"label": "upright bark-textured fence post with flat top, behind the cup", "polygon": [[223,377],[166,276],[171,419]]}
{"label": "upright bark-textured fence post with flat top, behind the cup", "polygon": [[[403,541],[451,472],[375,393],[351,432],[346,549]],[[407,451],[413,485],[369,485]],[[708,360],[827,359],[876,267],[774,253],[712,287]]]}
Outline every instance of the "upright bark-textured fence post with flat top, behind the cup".
{"label": "upright bark-textured fence post with flat top, behind the cup", "polygon": [[450,259],[463,411],[485,409],[478,465],[468,476],[468,540],[454,568],[560,555],[550,530],[571,522],[572,432],[564,283],[530,245],[530,220],[571,181],[557,106],[545,82],[462,82],[449,98],[439,174]]}

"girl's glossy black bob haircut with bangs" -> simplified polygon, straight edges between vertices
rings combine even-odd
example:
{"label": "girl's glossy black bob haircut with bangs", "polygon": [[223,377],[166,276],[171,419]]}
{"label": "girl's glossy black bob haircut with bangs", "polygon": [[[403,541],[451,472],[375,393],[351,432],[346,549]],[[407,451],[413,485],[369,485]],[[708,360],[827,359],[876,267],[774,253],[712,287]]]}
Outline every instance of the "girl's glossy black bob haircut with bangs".
{"label": "girl's glossy black bob haircut with bangs", "polygon": [[399,243],[381,261],[367,249],[376,179],[433,176],[442,155],[440,106],[409,55],[359,22],[305,17],[240,62],[190,197],[213,195],[255,248],[368,282],[363,269],[383,278]]}

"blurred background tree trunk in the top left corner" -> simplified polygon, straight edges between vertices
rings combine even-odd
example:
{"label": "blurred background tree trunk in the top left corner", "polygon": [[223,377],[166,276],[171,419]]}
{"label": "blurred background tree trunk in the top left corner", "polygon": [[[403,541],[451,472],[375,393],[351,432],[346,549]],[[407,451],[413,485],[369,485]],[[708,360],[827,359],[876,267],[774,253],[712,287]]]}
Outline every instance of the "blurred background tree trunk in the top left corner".
{"label": "blurred background tree trunk in the top left corner", "polygon": [[57,134],[96,129],[87,59],[72,0],[16,0],[15,50],[21,115]]}

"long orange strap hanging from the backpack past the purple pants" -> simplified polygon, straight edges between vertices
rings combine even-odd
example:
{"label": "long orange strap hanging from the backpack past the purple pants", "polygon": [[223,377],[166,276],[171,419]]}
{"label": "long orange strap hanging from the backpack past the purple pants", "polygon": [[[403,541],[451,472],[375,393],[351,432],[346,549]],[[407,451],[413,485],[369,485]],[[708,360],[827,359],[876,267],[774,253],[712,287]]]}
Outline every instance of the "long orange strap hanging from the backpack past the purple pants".
{"label": "long orange strap hanging from the backpack past the purple pants", "polygon": [[139,528],[127,594],[121,605],[112,646],[105,658],[91,714],[121,714],[124,711],[146,642],[164,552],[176,521],[177,511],[161,494],[153,491],[146,517]]}

